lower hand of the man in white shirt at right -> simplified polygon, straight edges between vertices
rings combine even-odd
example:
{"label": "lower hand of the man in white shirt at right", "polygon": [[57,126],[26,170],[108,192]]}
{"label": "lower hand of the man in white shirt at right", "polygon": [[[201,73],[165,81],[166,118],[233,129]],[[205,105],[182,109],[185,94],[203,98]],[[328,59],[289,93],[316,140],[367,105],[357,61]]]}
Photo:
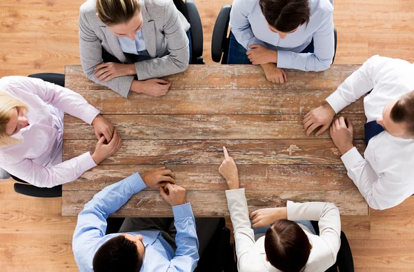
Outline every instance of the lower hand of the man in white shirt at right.
{"label": "lower hand of the man in white shirt at right", "polygon": [[353,148],[353,126],[348,118],[335,119],[331,125],[330,134],[333,143],[342,155]]}

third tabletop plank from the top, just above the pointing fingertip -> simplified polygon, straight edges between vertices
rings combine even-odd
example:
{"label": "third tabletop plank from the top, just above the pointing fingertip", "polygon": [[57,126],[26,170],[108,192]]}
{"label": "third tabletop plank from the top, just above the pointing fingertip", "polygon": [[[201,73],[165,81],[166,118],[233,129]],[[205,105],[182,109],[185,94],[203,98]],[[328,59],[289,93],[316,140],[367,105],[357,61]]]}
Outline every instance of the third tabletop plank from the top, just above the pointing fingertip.
{"label": "third tabletop plank from the top, just above the pointing fingertip", "polygon": [[[342,115],[339,115],[342,116]],[[306,138],[303,114],[105,115],[124,140]],[[354,138],[364,139],[363,114],[349,115]],[[63,138],[96,139],[93,127],[66,115]],[[311,136],[314,138],[314,136]],[[331,138],[329,130],[317,138]]]}

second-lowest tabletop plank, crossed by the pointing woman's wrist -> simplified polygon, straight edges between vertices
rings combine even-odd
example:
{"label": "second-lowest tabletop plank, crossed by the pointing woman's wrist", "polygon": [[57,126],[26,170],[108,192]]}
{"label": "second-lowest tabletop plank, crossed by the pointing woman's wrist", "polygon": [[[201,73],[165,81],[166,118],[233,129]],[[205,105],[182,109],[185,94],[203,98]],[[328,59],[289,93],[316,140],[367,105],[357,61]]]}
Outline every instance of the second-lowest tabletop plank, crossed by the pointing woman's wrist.
{"label": "second-lowest tabletop plank, crossed by the pointing woman's wrist", "polygon": [[[95,190],[118,182],[136,172],[145,173],[153,165],[98,165],[86,171],[63,190]],[[167,165],[178,185],[188,191],[227,189],[218,165]],[[239,165],[240,186],[246,190],[357,190],[343,165]],[[148,188],[147,190],[156,190]]]}

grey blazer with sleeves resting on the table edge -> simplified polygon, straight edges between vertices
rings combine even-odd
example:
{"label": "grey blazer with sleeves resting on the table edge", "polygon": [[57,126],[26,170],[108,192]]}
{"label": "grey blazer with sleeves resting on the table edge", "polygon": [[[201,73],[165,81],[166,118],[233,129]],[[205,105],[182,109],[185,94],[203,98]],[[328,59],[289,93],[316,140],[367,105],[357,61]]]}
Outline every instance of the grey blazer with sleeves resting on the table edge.
{"label": "grey blazer with sleeves resting on the table edge", "polygon": [[[186,31],[190,24],[172,0],[140,0],[144,19],[142,33],[152,59],[135,63],[138,80],[159,78],[187,70],[190,58]],[[127,97],[134,76],[119,76],[103,82],[95,78],[101,64],[102,47],[122,63],[129,63],[117,36],[97,17],[96,0],[88,0],[79,14],[79,47],[83,72],[88,79]]]}

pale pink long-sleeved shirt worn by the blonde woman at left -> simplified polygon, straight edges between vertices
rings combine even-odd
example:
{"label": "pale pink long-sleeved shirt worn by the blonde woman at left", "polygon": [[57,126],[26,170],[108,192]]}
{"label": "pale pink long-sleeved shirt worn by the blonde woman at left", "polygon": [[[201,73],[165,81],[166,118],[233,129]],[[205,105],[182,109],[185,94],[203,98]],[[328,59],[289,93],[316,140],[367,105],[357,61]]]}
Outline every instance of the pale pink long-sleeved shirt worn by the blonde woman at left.
{"label": "pale pink long-sleeved shirt worn by the blonde woman at left", "polygon": [[0,79],[0,92],[28,106],[28,127],[12,137],[16,145],[0,146],[0,167],[37,187],[54,187],[75,180],[95,167],[90,152],[62,163],[63,114],[91,124],[99,110],[69,89],[25,76]]}

